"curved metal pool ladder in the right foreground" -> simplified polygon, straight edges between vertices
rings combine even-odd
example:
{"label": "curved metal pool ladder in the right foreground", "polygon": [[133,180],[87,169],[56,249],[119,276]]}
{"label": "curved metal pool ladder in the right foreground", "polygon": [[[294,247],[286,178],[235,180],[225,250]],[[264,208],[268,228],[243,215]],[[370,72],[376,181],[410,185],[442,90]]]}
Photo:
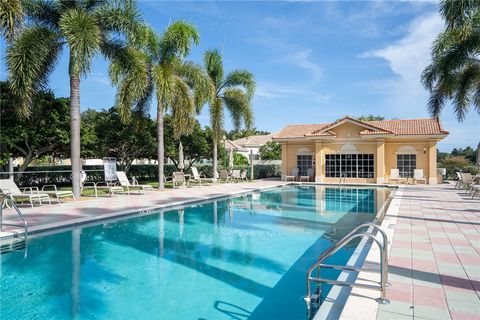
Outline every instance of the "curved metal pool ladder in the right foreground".
{"label": "curved metal pool ladder in the right foreground", "polygon": [[[362,229],[367,228],[366,231],[361,231]],[[374,232],[377,231],[382,236],[382,241],[376,237]],[[343,248],[345,245],[350,243],[354,239],[363,239],[367,238],[368,240],[373,240],[379,249],[380,249],[380,270],[377,268],[364,268],[364,267],[353,267],[353,266],[342,266],[342,265],[334,265],[334,264],[326,264],[324,261],[335,254],[338,250]],[[321,301],[320,296],[322,293],[321,284],[331,284],[331,285],[338,285],[344,287],[360,287],[360,288],[367,288],[367,289],[375,289],[380,290],[380,297],[375,299],[380,304],[388,304],[390,301],[386,298],[386,290],[388,283],[388,251],[387,251],[387,235],[385,232],[380,229],[380,227],[374,223],[364,223],[350,231],[347,235],[345,235],[341,240],[339,240],[336,244],[332,245],[328,248],[324,253],[320,255],[317,262],[315,262],[307,272],[307,296],[304,298],[305,302],[307,303],[307,316],[308,319],[311,319],[315,312],[320,307]],[[369,272],[369,273],[380,273],[380,281],[377,285],[371,284],[364,284],[364,283],[356,283],[348,282],[348,281],[341,281],[341,280],[331,280],[322,278],[320,276],[320,270],[322,268],[326,269],[336,269],[341,271],[348,271],[348,272]],[[317,272],[316,276],[312,274]],[[316,290],[312,293],[312,282],[316,283]]]}

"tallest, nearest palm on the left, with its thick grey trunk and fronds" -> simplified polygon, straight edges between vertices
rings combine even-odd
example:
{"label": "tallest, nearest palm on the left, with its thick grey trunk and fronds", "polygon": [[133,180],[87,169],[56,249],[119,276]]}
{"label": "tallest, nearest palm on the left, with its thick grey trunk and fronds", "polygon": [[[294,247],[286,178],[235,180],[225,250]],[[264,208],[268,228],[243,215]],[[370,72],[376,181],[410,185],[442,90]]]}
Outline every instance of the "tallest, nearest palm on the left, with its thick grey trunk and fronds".
{"label": "tallest, nearest palm on the left, with its thick grey trunk and fronds", "polygon": [[[2,0],[5,1],[5,0]],[[9,2],[9,0],[7,0]],[[11,2],[17,4],[18,0]],[[35,94],[66,47],[69,51],[70,144],[73,193],[80,196],[80,77],[88,74],[92,58],[112,58],[121,43],[119,35],[135,41],[138,11],[130,0],[20,1],[0,7],[2,31],[13,39],[7,50],[11,89],[19,108],[28,114]],[[19,14],[23,12],[23,21]],[[21,32],[16,34],[23,22]],[[17,32],[18,33],[18,32]],[[15,37],[14,37],[15,36]]]}

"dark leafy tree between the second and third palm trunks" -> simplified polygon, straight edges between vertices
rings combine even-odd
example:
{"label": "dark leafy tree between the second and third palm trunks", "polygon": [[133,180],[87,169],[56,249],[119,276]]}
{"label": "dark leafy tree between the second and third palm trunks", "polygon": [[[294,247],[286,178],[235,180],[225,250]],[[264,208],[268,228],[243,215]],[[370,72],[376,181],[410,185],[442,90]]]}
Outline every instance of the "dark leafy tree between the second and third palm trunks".
{"label": "dark leafy tree between the second and third palm trunks", "polygon": [[175,166],[178,166],[178,145],[182,142],[185,159],[189,160],[188,170],[192,165],[201,159],[210,157],[210,145],[212,141],[211,130],[202,130],[200,123],[195,120],[191,134],[182,135],[179,141],[173,139],[172,117],[165,116],[165,156],[170,158]]}

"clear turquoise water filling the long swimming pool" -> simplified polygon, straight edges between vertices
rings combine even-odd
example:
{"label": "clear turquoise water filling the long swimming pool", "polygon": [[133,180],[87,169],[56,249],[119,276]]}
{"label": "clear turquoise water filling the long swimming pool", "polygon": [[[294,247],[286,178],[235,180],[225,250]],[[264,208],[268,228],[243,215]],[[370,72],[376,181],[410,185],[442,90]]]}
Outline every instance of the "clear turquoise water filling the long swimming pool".
{"label": "clear turquoise water filling the long swimming pool", "polygon": [[306,270],[387,193],[289,186],[34,238],[1,255],[0,318],[305,319]]}

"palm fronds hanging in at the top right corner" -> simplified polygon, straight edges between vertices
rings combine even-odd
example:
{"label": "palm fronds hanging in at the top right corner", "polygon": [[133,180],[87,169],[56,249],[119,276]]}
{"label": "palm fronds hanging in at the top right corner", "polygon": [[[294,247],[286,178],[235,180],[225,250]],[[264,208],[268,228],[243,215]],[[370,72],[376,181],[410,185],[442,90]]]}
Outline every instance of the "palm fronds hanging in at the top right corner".
{"label": "palm fronds hanging in at the top right corner", "polygon": [[438,117],[452,100],[458,121],[473,107],[480,113],[480,2],[441,1],[446,28],[433,45],[422,82],[430,91],[430,113]]}

